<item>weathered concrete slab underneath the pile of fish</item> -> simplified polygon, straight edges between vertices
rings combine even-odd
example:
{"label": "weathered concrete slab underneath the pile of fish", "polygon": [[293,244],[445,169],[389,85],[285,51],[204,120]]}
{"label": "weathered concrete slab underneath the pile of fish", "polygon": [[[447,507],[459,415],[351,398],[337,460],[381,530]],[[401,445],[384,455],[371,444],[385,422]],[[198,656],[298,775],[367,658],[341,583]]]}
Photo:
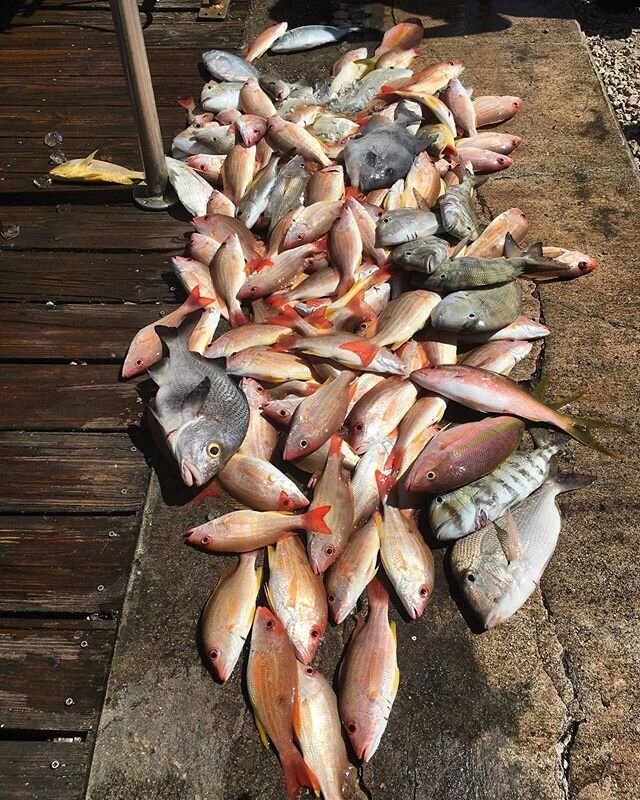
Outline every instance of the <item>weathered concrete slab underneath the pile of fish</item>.
{"label": "weathered concrete slab underneath the pile of fish", "polygon": [[[279,2],[277,18],[288,7]],[[586,388],[576,409],[632,433],[617,437],[621,460],[569,448],[565,468],[598,480],[561,499],[563,532],[540,591],[504,626],[479,633],[448,580],[444,550],[436,551],[436,592],[424,617],[409,624],[392,610],[400,689],[362,786],[375,800],[635,800],[640,182],[564,5],[402,0],[395,18],[427,7],[442,14],[430,21],[429,56],[463,59],[477,93],[525,101],[505,126],[525,144],[515,166],[483,188],[484,211],[519,206],[531,219],[530,240],[578,248],[600,263],[586,278],[540,287],[552,335],[528,370],[553,373],[558,395]],[[318,13],[310,3],[291,8],[292,24]],[[373,12],[371,25],[391,24],[388,8]],[[256,3],[253,29],[266,19]],[[313,75],[334,57],[332,49],[290,57],[288,69]],[[180,505],[185,494],[164,471],[161,479],[148,499],[89,797],[277,800],[280,768],[260,743],[242,670],[218,686],[195,643],[227,559],[186,548],[182,533],[220,501]],[[318,658],[324,674],[333,675],[351,624],[329,631]]]}

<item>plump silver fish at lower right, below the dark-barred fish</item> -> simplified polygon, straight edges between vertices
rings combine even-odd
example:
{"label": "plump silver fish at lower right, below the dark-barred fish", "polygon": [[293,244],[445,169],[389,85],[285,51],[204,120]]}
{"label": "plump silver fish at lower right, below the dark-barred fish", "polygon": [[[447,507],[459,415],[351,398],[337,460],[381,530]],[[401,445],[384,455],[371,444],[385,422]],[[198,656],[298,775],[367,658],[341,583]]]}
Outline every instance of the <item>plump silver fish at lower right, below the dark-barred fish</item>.
{"label": "plump silver fish at lower right, below the dark-barred fish", "polygon": [[513,512],[458,540],[451,569],[465,599],[485,628],[509,619],[539,584],[556,548],[562,520],[556,497],[593,483],[582,475],[560,475]]}

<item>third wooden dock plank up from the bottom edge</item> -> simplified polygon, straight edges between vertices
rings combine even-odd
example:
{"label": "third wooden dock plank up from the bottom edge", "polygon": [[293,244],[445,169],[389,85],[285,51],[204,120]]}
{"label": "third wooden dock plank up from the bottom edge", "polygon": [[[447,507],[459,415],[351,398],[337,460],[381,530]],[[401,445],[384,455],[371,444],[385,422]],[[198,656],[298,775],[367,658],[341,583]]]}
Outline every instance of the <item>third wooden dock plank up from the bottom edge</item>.
{"label": "third wooden dock plank up from the bottom edge", "polygon": [[0,516],[0,613],[120,610],[138,517]]}

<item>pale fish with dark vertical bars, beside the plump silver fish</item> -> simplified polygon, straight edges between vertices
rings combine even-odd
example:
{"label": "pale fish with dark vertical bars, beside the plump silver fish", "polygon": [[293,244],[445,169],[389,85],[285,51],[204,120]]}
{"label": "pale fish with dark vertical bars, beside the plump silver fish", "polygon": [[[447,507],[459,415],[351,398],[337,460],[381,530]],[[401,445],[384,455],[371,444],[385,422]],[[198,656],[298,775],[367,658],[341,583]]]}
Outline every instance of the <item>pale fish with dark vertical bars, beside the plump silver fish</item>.
{"label": "pale fish with dark vertical bars, beside the plump silver fish", "polygon": [[549,428],[532,428],[536,449],[516,450],[499,467],[473,483],[435,497],[429,522],[441,542],[460,539],[499,519],[544,483],[552,457],[570,437]]}

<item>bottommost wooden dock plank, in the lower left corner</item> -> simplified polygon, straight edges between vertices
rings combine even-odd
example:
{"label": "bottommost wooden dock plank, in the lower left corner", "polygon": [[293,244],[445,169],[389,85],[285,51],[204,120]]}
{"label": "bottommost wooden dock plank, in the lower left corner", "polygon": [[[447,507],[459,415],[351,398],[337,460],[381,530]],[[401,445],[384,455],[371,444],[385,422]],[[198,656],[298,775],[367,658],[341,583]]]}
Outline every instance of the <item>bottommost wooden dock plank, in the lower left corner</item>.
{"label": "bottommost wooden dock plank, in the lower left corner", "polygon": [[0,741],[5,800],[82,800],[91,746],[86,742]]}

